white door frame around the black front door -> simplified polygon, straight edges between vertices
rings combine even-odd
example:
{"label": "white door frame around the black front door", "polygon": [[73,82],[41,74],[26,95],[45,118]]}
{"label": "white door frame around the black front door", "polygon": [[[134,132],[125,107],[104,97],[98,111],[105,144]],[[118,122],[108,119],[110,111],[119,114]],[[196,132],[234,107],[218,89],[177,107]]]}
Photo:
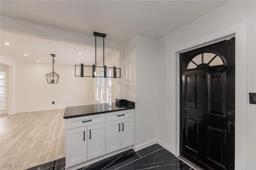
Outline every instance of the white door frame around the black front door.
{"label": "white door frame around the black front door", "polygon": [[[171,50],[175,67],[175,154],[180,154],[180,53],[235,37],[235,169],[246,169],[247,156],[247,24],[210,32],[207,37],[193,40]],[[239,87],[237,86],[239,85]]]}

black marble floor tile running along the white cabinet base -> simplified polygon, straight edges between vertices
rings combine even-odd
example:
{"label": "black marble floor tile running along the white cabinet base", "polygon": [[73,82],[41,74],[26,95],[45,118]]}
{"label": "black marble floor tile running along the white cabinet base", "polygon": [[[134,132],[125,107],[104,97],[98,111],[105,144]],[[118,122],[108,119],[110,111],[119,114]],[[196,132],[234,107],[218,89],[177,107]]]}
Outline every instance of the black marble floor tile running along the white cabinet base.
{"label": "black marble floor tile running along the white cabinet base", "polygon": [[90,166],[80,168],[79,170],[114,170],[138,158],[140,158],[140,156],[134,150],[130,149],[104,160],[100,160]]}

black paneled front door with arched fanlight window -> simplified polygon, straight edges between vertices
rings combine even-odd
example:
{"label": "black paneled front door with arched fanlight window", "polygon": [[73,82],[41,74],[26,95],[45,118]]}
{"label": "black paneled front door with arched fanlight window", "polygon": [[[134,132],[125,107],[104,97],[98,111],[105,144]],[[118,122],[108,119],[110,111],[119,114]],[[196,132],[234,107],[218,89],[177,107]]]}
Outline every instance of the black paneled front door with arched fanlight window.
{"label": "black paneled front door with arched fanlight window", "polygon": [[180,54],[180,153],[205,169],[233,170],[235,38]]}

